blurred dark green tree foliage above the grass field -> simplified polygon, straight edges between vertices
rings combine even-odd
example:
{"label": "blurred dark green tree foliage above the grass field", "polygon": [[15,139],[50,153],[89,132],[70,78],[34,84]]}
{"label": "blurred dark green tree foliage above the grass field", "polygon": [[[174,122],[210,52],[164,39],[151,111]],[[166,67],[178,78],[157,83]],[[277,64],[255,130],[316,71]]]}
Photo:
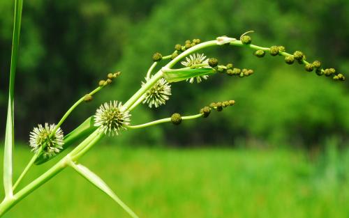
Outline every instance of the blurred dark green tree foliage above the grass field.
{"label": "blurred dark green tree foliage above the grass field", "polygon": [[[0,2],[1,120],[5,119],[7,72],[12,34],[12,1]],[[24,5],[17,77],[17,136],[37,123],[57,122],[79,96],[114,70],[123,75],[91,104],[74,112],[68,132],[94,113],[103,100],[126,101],[140,87],[154,52],[170,54],[186,39],[238,38],[253,29],[253,43],[301,49],[349,75],[349,3],[322,1],[27,1]],[[239,68],[252,68],[247,79],[215,76],[198,85],[172,84],[172,98],[160,109],[133,111],[133,123],[193,114],[218,100],[235,107],[207,120],[129,131],[119,143],[237,144],[318,146],[329,136],[348,140],[348,80],[336,83],[282,57],[257,59],[238,47],[207,49],[207,56]],[[4,122],[1,125],[3,130]],[[1,131],[3,132],[3,131]]]}

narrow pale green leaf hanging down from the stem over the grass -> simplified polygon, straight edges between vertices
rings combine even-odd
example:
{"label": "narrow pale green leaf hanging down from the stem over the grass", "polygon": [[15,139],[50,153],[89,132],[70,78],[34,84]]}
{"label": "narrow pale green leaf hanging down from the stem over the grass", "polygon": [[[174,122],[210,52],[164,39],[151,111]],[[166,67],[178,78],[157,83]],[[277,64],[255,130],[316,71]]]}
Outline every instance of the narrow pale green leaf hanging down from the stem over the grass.
{"label": "narrow pale green leaf hanging down from the stem over the grass", "polygon": [[82,177],[87,179],[89,182],[91,182],[93,185],[98,187],[98,189],[101,189],[102,192],[107,194],[107,196],[110,196],[115,202],[117,202],[121,208],[124,208],[128,214],[133,218],[138,218],[138,216],[133,212],[128,206],[121,201],[121,199],[110,189],[110,187],[107,186],[107,184],[96,175],[96,173],[90,171],[86,166],[83,166],[82,164],[75,164],[74,162],[70,162],[69,164],[77,173],[79,173]]}

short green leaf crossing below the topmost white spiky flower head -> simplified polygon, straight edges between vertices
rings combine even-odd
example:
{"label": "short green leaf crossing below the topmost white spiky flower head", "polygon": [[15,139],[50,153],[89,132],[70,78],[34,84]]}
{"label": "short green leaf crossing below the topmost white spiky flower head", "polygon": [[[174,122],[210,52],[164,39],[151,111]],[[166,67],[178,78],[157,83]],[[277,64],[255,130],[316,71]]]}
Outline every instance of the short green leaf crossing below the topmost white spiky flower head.
{"label": "short green leaf crossing below the topmost white spiky flower head", "polygon": [[183,81],[183,80],[189,79],[191,77],[211,75],[214,73],[215,72],[212,68],[198,68],[198,69],[181,68],[177,70],[164,70],[163,77],[168,82],[177,82],[177,81]]}

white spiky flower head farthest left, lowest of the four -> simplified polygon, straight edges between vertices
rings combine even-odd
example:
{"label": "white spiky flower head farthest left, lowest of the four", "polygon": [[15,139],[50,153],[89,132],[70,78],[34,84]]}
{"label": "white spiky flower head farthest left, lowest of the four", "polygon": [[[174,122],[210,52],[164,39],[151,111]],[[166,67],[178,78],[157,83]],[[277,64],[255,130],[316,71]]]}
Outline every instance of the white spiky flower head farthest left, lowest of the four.
{"label": "white spiky flower head farthest left, lowest of the four", "polygon": [[[43,157],[52,157],[59,153],[63,149],[64,144],[64,134],[61,130],[61,127],[58,127],[56,132],[52,132],[56,129],[56,125],[45,123],[45,125],[39,124],[38,127],[34,127],[33,131],[29,134],[29,144],[31,150],[34,153],[38,153],[38,150],[42,146],[43,148]],[[50,135],[52,134],[52,137]]]}

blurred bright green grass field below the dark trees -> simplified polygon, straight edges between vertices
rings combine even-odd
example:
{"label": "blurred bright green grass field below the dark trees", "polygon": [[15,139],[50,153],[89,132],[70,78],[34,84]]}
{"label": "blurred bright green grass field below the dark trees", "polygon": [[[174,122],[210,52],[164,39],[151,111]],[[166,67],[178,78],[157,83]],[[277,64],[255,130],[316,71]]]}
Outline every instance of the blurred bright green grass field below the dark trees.
{"label": "blurred bright green grass field below the dark trees", "polygon": [[[140,217],[333,218],[349,217],[348,154],[324,164],[285,150],[101,146],[81,163],[97,172]],[[29,155],[24,148],[16,150],[16,175]],[[36,166],[29,178],[45,168]],[[66,169],[4,217],[128,215]]]}

